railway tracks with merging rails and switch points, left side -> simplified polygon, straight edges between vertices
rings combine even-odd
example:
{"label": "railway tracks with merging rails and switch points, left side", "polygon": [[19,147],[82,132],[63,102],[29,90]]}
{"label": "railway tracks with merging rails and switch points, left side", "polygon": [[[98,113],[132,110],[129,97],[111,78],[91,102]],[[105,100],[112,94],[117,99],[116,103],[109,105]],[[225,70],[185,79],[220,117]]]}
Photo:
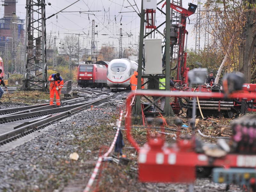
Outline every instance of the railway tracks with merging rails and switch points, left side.
{"label": "railway tracks with merging rails and switch points, left side", "polygon": [[0,134],[0,152],[15,148],[46,132],[47,126],[56,121],[75,115],[92,105],[99,105],[122,93],[97,90],[86,92],[91,95],[63,101],[60,108],[56,108],[56,104],[42,104],[0,110],[0,124],[3,124]]}

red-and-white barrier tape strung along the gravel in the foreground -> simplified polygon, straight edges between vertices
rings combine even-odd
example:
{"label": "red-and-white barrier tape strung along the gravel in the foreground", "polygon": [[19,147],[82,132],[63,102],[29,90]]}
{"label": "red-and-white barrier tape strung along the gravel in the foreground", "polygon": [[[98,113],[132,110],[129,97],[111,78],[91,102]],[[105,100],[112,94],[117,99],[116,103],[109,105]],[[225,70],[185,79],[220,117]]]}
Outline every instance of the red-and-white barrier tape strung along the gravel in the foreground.
{"label": "red-and-white barrier tape strung along the gravel in the foreground", "polygon": [[118,121],[118,125],[117,125],[118,128],[117,128],[117,130],[116,130],[115,138],[114,138],[114,140],[113,140],[113,142],[112,142],[110,148],[108,149],[108,152],[105,153],[103,156],[100,156],[100,157],[98,158],[98,161],[97,161],[97,163],[96,163],[96,166],[95,166],[95,168],[94,168],[94,170],[93,170],[93,172],[92,172],[92,176],[91,176],[90,180],[88,181],[87,186],[86,186],[86,188],[84,189],[84,192],[88,192],[88,191],[90,190],[90,188],[92,187],[92,183],[93,183],[93,181],[95,180],[95,177],[96,177],[96,175],[97,175],[97,173],[98,173],[98,171],[99,171],[99,168],[100,168],[100,164],[101,164],[101,162],[102,162],[102,159],[103,159],[104,157],[108,156],[108,154],[109,154],[109,153],[112,151],[112,149],[114,148],[115,143],[116,143],[116,139],[117,139],[117,136],[118,136],[118,133],[119,133],[119,130],[120,130],[122,116],[123,116],[123,110],[121,110],[121,113],[120,113],[120,117],[119,117],[119,121]]}

